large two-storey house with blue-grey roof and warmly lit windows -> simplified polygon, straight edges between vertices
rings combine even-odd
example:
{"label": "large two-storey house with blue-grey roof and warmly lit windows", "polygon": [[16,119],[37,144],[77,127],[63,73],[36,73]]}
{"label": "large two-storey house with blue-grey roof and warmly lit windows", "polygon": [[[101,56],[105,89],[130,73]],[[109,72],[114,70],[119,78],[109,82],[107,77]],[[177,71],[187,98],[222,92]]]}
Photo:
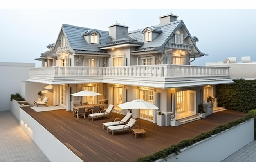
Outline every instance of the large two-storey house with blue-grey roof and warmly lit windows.
{"label": "large two-storey house with blue-grey roof and warmly lit windows", "polygon": [[[229,67],[190,65],[207,54],[199,50],[199,39],[177,18],[172,13],[159,16],[159,24],[135,31],[118,23],[108,26],[109,31],[63,24],[56,42],[36,58],[42,67],[29,68],[25,99],[33,102],[38,91],[44,90],[47,104],[67,111],[76,103],[105,103],[113,104],[113,112],[123,115],[126,110],[118,104],[143,99],[164,115],[140,109],[132,111],[133,118],[157,123],[163,116],[157,123],[161,126],[200,119],[197,105],[214,96],[214,86],[234,82]],[[102,95],[71,96],[81,90]]]}

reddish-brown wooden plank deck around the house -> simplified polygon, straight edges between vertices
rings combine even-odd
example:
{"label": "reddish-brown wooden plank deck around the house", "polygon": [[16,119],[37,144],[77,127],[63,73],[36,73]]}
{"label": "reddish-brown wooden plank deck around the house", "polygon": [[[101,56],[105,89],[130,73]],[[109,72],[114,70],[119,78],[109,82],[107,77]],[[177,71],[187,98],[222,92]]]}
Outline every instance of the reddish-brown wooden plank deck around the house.
{"label": "reddish-brown wooden plank deck around the house", "polygon": [[[75,118],[72,111],[55,110],[36,112],[30,107],[22,108],[52,135],[85,162],[134,162],[138,157],[150,155],[181,140],[193,138],[202,131],[210,130],[218,124],[243,117],[246,113],[225,110],[206,118],[180,126],[157,126],[140,120],[140,128],[146,131],[146,138],[130,132],[117,132],[114,136],[103,130],[103,122],[114,119],[101,118],[87,120]],[[115,118],[123,115],[112,113]],[[138,124],[138,122],[136,123]],[[43,138],[43,137],[42,137]]]}

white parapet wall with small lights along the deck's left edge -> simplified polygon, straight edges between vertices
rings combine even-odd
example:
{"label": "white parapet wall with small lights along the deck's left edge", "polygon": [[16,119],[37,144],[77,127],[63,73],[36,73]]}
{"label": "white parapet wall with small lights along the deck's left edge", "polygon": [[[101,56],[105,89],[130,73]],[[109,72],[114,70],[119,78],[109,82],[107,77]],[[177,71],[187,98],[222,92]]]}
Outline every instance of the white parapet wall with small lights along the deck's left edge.
{"label": "white parapet wall with small lights along the deck's left edge", "polygon": [[51,162],[83,162],[83,160],[70,151],[70,149],[21,108],[20,126]]}

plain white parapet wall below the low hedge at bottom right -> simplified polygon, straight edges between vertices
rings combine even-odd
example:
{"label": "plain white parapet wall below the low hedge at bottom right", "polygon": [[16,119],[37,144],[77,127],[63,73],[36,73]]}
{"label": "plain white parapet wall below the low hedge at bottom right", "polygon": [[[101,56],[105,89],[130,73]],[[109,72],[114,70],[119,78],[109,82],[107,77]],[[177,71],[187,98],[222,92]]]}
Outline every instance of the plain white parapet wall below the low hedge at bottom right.
{"label": "plain white parapet wall below the low hedge at bottom right", "polygon": [[220,162],[254,140],[254,119],[156,162]]}

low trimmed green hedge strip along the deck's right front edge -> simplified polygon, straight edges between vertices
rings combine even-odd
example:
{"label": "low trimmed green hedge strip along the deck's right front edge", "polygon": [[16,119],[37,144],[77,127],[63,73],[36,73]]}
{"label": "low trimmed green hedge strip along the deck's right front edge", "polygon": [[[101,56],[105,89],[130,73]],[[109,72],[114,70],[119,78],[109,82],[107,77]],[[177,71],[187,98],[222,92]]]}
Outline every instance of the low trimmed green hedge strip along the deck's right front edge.
{"label": "low trimmed green hedge strip along the deck's right front edge", "polygon": [[212,135],[221,133],[222,131],[230,129],[233,126],[237,126],[240,123],[248,121],[248,120],[250,120],[252,118],[256,118],[256,110],[250,111],[243,118],[239,118],[237,120],[228,122],[227,124],[216,126],[211,131],[203,132],[200,135],[196,136],[195,138],[182,140],[179,144],[174,144],[174,145],[172,145],[172,146],[170,146],[170,147],[168,147],[166,149],[163,149],[163,150],[161,150],[159,152],[156,152],[156,153],[154,153],[152,155],[146,155],[144,157],[137,158],[136,162],[154,162],[154,161],[156,161],[158,159],[167,158],[169,155],[171,155],[173,153],[175,153],[176,155],[179,155],[181,149],[189,147],[189,146],[195,144],[196,142],[200,142],[200,141],[202,141],[204,139],[207,139],[207,138],[211,137]]}

